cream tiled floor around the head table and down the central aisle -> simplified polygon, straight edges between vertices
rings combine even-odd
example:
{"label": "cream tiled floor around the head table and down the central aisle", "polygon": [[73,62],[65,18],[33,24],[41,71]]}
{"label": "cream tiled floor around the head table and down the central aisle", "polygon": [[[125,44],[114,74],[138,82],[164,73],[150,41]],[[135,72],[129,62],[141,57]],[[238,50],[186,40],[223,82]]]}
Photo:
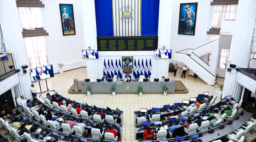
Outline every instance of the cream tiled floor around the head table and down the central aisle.
{"label": "cream tiled floor around the head table and down the central aisle", "polygon": [[[152,108],[161,107],[165,104],[173,104],[180,102],[183,99],[195,97],[198,93],[206,91],[210,92],[210,95],[217,95],[217,88],[215,86],[207,85],[201,78],[194,78],[186,74],[186,78],[180,78],[181,69],[177,71],[177,77],[173,77],[173,72],[169,72],[168,77],[174,80],[181,80],[182,83],[188,88],[187,94],[143,94],[141,97],[138,94],[91,94],[87,96],[85,94],[69,94],[68,89],[72,86],[73,78],[79,78],[83,80],[87,78],[86,68],[79,68],[72,71],[66,71],[63,74],[54,74],[53,78],[47,79],[48,88],[50,90],[56,90],[64,97],[69,97],[77,102],[86,102],[89,105],[96,105],[97,107],[104,107],[115,109],[116,107],[124,111],[124,123],[123,123],[123,142],[134,141],[134,114],[135,110],[140,108]],[[224,83],[224,78],[218,78],[218,83]],[[42,91],[46,90],[46,84],[44,81],[40,82]],[[36,89],[39,91],[39,83],[34,83]],[[51,94],[53,92],[50,92]],[[220,101],[217,98],[216,102]],[[1,127],[1,125],[0,125]],[[256,130],[256,129],[255,129]],[[1,133],[5,133],[2,129]],[[7,136],[7,135],[6,135]],[[248,134],[246,140],[249,142],[256,137],[256,133]]]}

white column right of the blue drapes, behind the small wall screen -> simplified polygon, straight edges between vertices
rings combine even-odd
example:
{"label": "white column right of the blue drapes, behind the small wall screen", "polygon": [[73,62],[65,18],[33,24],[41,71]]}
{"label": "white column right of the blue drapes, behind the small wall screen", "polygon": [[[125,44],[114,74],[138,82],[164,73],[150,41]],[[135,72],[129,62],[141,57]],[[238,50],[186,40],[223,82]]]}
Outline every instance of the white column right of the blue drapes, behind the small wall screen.
{"label": "white column right of the blue drapes, behind the small wall screen", "polygon": [[[170,9],[172,7],[171,0],[160,0],[159,4],[159,22],[158,22],[158,49],[172,49],[171,47],[171,24],[172,13]],[[174,53],[172,53],[173,57]],[[161,75],[168,75],[169,59],[158,59],[156,70],[156,78],[161,78]]]}

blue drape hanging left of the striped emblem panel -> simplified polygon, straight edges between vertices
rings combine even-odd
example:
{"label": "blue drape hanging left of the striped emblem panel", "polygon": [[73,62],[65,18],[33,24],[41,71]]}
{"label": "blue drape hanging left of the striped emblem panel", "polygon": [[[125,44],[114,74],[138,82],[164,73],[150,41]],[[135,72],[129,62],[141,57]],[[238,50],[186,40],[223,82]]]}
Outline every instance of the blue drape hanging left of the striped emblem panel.
{"label": "blue drape hanging left of the striped emblem panel", "polygon": [[112,0],[95,0],[95,14],[97,36],[113,36]]}

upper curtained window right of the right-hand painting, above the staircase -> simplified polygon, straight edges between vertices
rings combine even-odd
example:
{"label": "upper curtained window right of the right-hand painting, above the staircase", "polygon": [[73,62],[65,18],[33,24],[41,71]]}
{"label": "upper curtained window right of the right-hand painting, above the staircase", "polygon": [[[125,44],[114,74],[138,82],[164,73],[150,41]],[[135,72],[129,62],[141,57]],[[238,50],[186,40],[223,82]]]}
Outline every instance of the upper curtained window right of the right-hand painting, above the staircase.
{"label": "upper curtained window right of the right-hand painting, above the staircase", "polygon": [[220,29],[222,19],[235,20],[237,4],[232,5],[215,5],[212,28]]}

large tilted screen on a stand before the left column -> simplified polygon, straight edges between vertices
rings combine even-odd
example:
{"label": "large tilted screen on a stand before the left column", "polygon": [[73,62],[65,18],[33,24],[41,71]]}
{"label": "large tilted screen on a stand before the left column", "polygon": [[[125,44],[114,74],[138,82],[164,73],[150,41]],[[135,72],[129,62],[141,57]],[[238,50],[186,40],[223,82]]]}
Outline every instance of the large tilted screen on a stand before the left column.
{"label": "large tilted screen on a stand before the left column", "polygon": [[54,77],[52,64],[29,70],[31,83]]}

